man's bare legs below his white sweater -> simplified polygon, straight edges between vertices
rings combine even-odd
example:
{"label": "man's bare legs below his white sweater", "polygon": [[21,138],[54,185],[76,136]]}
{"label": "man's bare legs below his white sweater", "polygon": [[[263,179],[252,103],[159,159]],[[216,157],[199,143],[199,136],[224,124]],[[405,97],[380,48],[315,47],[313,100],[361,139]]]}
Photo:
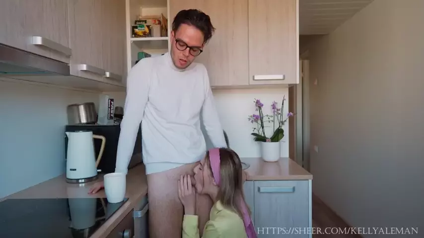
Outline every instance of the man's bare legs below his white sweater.
{"label": "man's bare legs below his white sweater", "polygon": [[[199,162],[175,169],[147,175],[150,238],[181,238],[184,207],[178,198],[180,175],[194,175]],[[197,194],[196,215],[199,216],[199,232],[209,220],[213,202],[208,195]]]}

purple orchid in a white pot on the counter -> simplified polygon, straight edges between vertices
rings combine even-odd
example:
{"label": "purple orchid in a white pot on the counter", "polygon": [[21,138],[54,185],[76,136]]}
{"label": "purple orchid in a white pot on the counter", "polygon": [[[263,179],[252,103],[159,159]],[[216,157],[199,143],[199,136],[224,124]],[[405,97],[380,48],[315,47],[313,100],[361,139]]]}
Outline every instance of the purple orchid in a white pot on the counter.
{"label": "purple orchid in a white pot on the counter", "polygon": [[[287,113],[286,117],[283,118],[285,96],[283,97],[281,108],[278,107],[277,102],[271,104],[272,115],[264,114],[264,104],[259,99],[255,99],[255,108],[257,114],[250,115],[249,121],[255,126],[251,135],[254,136],[254,140],[261,144],[262,158],[265,161],[273,162],[280,159],[281,144],[280,141],[284,137],[283,125],[292,116],[293,113]],[[267,135],[267,129],[272,128],[272,133]],[[269,131],[269,130],[268,130]]]}

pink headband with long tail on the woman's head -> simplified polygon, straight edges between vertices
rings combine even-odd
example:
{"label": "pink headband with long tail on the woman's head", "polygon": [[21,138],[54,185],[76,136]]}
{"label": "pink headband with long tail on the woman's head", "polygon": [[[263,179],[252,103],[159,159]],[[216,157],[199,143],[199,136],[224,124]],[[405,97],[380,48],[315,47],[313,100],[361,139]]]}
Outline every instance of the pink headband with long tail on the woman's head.
{"label": "pink headband with long tail on the woman's head", "polygon": [[[219,155],[219,148],[213,148],[209,150],[209,162],[211,163],[211,170],[213,174],[213,179],[217,185],[220,184],[221,179],[221,157]],[[255,227],[253,226],[252,219],[249,216],[249,212],[247,211],[247,206],[244,203],[243,199],[240,197],[240,208],[243,212],[243,223],[244,229],[246,230],[246,234],[248,238],[256,238]]]}

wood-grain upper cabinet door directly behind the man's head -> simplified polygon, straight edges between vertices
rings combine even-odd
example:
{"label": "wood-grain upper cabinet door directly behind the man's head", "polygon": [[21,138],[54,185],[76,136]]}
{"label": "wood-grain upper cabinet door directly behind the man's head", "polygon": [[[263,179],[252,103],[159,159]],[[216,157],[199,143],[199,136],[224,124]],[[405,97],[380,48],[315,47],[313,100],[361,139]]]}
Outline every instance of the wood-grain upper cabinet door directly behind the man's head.
{"label": "wood-grain upper cabinet door directly behind the man's head", "polygon": [[248,85],[247,0],[171,0],[170,19],[180,10],[190,8],[208,14],[216,28],[196,59],[208,69],[211,86]]}

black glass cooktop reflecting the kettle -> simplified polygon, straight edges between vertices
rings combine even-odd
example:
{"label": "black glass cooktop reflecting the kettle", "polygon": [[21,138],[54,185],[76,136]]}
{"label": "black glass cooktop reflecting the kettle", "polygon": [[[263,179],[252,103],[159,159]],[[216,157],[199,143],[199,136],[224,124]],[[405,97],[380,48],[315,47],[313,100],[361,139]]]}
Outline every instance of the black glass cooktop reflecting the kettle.
{"label": "black glass cooktop reflecting the kettle", "polygon": [[88,238],[126,201],[106,198],[7,199],[0,202],[1,238]]}

